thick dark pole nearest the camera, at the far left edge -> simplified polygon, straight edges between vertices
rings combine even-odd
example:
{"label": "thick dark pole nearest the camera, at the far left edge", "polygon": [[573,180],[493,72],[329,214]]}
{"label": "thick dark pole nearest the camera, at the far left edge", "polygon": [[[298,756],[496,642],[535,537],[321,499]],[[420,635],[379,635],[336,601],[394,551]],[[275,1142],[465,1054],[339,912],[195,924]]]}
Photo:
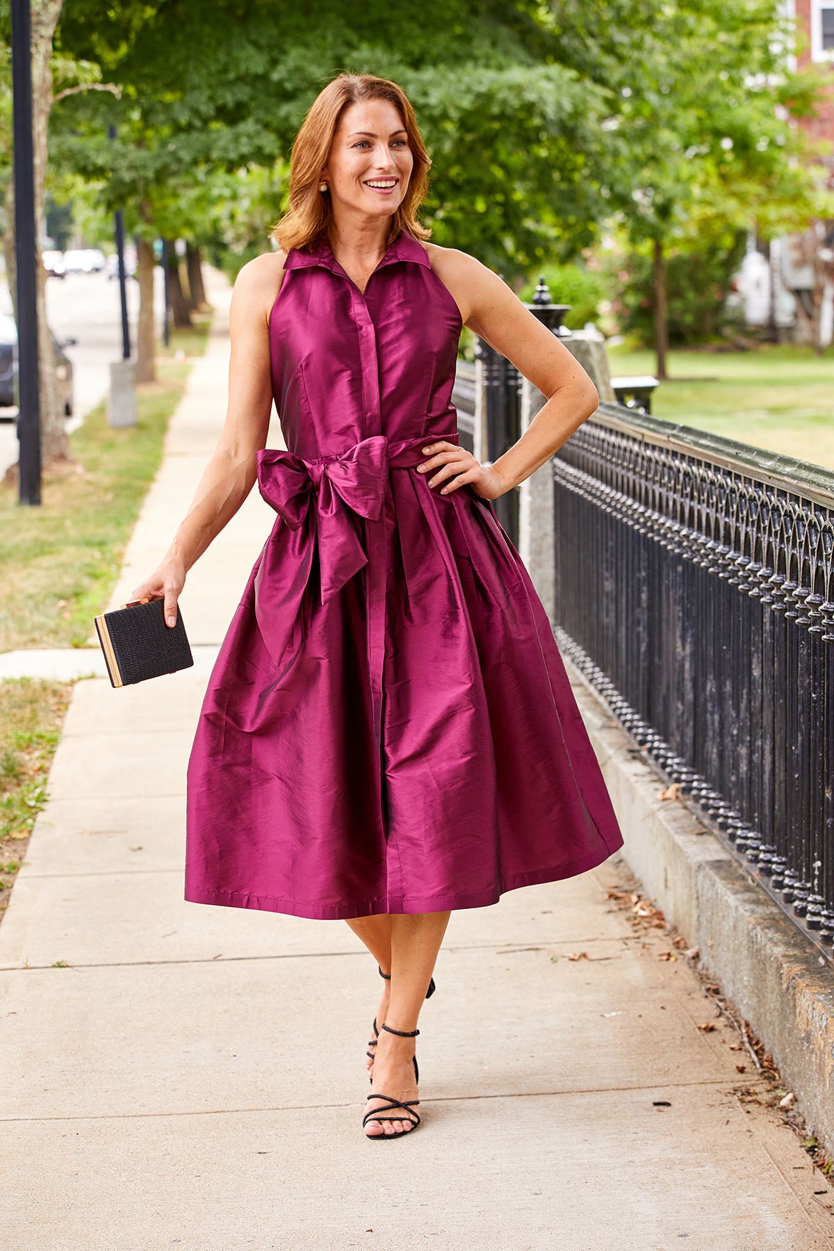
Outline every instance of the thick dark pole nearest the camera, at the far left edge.
{"label": "thick dark pole nearest the camera, at the far left edge", "polygon": [[40,504],[40,372],[38,360],[38,238],[31,104],[31,13],[11,0],[11,80],[18,278],[18,499]]}

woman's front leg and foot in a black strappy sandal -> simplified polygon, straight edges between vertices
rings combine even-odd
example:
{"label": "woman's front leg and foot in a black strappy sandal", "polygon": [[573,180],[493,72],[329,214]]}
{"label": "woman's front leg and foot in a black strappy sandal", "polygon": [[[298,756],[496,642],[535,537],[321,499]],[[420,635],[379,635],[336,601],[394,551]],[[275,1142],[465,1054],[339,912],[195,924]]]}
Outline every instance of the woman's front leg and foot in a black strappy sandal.
{"label": "woman's front leg and foot in a black strappy sandal", "polygon": [[[420,1008],[425,1002],[425,992],[450,916],[450,912],[390,916],[391,981],[388,1013],[384,1020],[391,1030],[400,1030],[404,1033],[416,1030]],[[401,1038],[380,1028],[374,1061],[374,1090],[403,1102],[418,1097],[413,1065],[415,1042],[416,1038]],[[386,1107],[390,1105],[385,1100],[368,1101],[369,1112],[384,1112]],[[395,1112],[396,1108],[393,1110],[394,1115]],[[408,1117],[404,1121],[369,1121],[365,1133],[376,1137],[380,1133],[398,1133],[411,1128],[413,1123]]]}

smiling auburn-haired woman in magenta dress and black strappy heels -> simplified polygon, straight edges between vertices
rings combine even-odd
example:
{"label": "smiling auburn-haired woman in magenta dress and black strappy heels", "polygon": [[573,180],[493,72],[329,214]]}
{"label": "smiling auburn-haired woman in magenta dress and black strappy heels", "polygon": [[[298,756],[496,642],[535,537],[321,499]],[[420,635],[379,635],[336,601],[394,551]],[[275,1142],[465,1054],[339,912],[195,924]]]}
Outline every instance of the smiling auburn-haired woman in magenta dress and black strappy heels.
{"label": "smiling auburn-haired woman in magenta dress and black strappy heels", "polygon": [[[203,703],[185,897],[348,922],[385,978],[363,1121],[383,1140],[420,1123],[414,1040],[451,911],[623,843],[490,505],[599,398],[498,275],[421,241],[430,163],[396,84],[339,75],[291,155],[280,249],[233,293],[224,430],[133,598],[163,597],[173,624],[186,570],[258,480],[279,515]],[[490,465],[458,443],[461,325],[549,397]],[[273,398],[286,452],[265,448]]]}

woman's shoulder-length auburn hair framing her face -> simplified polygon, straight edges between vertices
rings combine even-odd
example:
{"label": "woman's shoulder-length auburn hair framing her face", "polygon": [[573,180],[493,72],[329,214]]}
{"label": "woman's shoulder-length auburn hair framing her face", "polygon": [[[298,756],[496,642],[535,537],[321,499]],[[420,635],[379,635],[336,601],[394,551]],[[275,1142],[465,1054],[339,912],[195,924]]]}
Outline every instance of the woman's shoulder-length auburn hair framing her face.
{"label": "woman's shoulder-length auburn hair framing her face", "polygon": [[321,235],[330,236],[333,208],[330,193],[319,190],[319,174],[326,164],[341,115],[351,104],[388,100],[400,114],[414,156],[405,195],[393,214],[386,245],[400,230],[416,239],[428,239],[431,230],[416,220],[416,211],[429,191],[431,160],[425,150],[411,101],[396,83],[374,74],[339,74],[319,91],[308,109],[290,153],[289,209],[270,233],[283,251],[305,248]]}

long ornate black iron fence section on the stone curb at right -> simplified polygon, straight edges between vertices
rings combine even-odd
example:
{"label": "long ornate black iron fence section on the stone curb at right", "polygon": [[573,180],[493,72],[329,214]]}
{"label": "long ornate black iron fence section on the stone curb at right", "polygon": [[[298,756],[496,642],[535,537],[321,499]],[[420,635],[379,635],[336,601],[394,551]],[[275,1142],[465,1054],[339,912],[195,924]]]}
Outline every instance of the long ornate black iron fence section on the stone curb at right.
{"label": "long ornate black iron fence section on the stone curb at right", "polygon": [[834,474],[615,404],[551,464],[560,648],[830,953]]}

